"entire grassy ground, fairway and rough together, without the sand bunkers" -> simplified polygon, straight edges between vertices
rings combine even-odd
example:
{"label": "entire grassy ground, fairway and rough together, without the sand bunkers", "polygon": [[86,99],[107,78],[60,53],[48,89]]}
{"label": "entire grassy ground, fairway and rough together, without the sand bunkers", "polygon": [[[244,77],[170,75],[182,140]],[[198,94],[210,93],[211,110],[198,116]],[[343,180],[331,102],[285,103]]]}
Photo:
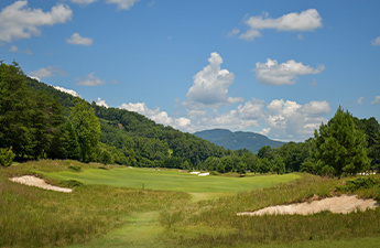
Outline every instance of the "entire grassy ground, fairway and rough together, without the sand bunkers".
{"label": "entire grassy ground, fairway and rough together, without the sand bunkers", "polygon": [[[69,166],[79,166],[82,172]],[[236,215],[303,202],[314,194],[341,194],[346,180],[297,174],[295,181],[274,185],[285,177],[197,177],[177,171],[99,166],[39,161],[0,169],[0,246],[347,248],[377,247],[380,241],[379,208],[347,215]],[[8,180],[21,174],[37,174],[52,183],[74,180],[70,183],[76,187],[65,194]],[[186,185],[188,180],[202,181]],[[207,180],[216,180],[215,186],[209,188],[213,181]],[[133,183],[137,188],[128,188]],[[349,193],[363,197],[380,194],[377,186]]]}

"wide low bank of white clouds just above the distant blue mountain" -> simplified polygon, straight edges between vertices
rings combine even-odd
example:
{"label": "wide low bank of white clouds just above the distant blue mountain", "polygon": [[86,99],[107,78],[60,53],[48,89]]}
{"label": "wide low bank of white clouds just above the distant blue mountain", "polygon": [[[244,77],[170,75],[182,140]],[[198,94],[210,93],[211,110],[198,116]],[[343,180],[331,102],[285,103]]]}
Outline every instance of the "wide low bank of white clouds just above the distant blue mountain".
{"label": "wide low bank of white clouds just above the distant blue mountain", "polygon": [[185,131],[213,128],[231,130],[259,130],[262,134],[283,141],[304,141],[313,136],[324,115],[330,111],[327,101],[311,101],[305,105],[292,100],[274,99],[267,104],[254,99],[222,114],[192,111],[187,114],[191,126]]}

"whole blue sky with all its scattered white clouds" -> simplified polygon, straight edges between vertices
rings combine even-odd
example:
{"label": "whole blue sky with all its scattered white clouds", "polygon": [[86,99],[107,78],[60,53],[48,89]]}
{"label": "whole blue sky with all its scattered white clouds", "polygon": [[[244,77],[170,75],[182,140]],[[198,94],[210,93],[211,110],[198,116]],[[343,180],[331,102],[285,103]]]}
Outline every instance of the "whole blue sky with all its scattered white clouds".
{"label": "whole blue sky with all its scattered white clouds", "polygon": [[0,60],[191,133],[380,120],[378,0],[0,0]]}

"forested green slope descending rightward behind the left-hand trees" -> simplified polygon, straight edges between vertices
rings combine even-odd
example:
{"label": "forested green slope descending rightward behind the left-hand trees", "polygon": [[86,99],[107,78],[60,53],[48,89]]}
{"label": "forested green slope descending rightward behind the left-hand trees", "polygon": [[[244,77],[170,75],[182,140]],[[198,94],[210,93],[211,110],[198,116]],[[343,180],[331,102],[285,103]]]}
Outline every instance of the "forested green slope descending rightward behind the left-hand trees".
{"label": "forested green slope descending rightward behind the left-hand trees", "polygon": [[[35,79],[26,78],[26,82],[34,91],[43,90],[54,96],[66,112],[69,112],[76,101],[84,101]],[[173,161],[170,159],[176,159],[175,163],[188,161],[192,164],[198,164],[208,157],[220,158],[226,153],[225,149],[207,140],[155,123],[140,114],[119,108],[106,108],[95,103],[91,107],[100,121],[100,141],[108,145],[108,150],[116,154],[113,155],[116,158],[128,158],[133,150],[135,165],[152,166],[155,162],[158,163],[155,165],[171,166]],[[130,164],[122,159],[115,162]]]}

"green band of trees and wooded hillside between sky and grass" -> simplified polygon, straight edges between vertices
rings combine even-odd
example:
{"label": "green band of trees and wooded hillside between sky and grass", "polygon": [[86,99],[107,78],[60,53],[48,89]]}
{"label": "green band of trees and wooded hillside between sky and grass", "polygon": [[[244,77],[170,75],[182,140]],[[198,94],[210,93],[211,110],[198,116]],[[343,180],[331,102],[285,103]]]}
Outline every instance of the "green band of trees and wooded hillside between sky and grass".
{"label": "green band of trees and wooded hillside between sky and grass", "polygon": [[1,62],[0,165],[10,165],[13,159],[45,158],[219,173],[305,171],[339,176],[379,170],[380,125],[339,108],[305,142],[264,145],[257,154],[234,151],[137,112],[89,104],[29,78],[17,63]]}

